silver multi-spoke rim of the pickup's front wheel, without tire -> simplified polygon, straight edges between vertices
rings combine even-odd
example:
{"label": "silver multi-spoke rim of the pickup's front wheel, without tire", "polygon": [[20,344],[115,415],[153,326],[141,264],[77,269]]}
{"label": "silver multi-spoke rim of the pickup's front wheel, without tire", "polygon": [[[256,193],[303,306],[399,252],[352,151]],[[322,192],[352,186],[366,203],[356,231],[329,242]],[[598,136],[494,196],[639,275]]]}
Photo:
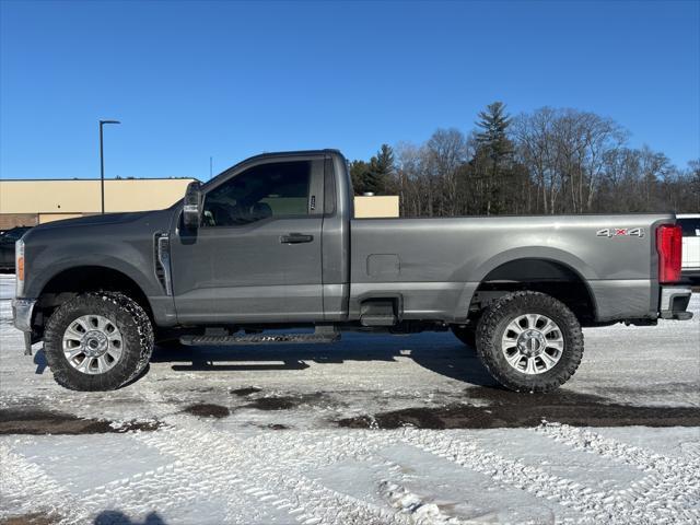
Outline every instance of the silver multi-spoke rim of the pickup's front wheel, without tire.
{"label": "silver multi-spoke rim of the pickup's front wheel, without tire", "polygon": [[78,317],[63,334],[63,355],[83,374],[104,374],[119,362],[122,350],[121,332],[102,315]]}

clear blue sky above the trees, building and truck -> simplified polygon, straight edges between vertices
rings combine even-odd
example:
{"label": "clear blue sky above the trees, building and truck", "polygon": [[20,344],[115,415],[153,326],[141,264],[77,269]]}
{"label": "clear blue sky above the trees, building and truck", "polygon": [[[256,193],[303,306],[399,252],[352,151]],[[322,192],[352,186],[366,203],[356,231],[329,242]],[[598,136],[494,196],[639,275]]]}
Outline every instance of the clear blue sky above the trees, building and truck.
{"label": "clear blue sky above the trees, building and truck", "polygon": [[700,2],[31,2],[0,12],[0,176],[209,177],[468,131],[486,104],[700,156]]}

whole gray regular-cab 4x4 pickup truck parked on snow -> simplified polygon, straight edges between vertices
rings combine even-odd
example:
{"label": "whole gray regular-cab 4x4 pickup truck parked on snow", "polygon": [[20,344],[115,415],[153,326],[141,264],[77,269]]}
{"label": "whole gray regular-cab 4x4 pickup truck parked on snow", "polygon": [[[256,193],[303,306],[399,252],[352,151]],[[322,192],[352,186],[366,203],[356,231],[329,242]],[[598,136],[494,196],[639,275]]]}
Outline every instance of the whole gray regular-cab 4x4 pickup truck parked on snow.
{"label": "whole gray regular-cab 4x4 pickup truck parked on snow", "polygon": [[131,382],[159,342],[452,329],[505,387],[548,392],[582,326],[691,317],[673,213],[355,219],[352,195],[340,152],[273,153],[166,210],[40,225],[16,245],[14,325],[81,390]]}

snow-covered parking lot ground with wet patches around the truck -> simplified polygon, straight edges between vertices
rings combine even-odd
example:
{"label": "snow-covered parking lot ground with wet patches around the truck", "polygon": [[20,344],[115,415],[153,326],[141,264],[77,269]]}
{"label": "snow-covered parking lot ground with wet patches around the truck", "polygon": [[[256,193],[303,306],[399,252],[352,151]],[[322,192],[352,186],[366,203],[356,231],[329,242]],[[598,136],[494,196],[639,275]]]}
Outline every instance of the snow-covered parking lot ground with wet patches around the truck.
{"label": "snow-covered parking lot ground with wet patches around the truck", "polygon": [[[586,329],[549,396],[451,334],[156,350],[113,393],[22,353],[0,276],[0,522],[700,523],[696,319]],[[542,422],[546,420],[546,422]]]}

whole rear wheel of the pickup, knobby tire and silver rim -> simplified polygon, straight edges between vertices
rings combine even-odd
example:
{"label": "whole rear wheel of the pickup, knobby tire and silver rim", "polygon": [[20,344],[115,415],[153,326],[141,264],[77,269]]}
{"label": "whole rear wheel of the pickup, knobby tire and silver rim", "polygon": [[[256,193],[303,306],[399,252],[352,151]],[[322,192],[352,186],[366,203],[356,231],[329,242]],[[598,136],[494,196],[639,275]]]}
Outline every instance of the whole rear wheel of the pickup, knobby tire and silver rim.
{"label": "whole rear wheel of the pickup, knobby tire and silver rim", "polygon": [[538,292],[494,301],[477,327],[477,352],[491,375],[515,392],[551,392],[576,371],[583,332],[560,301]]}

